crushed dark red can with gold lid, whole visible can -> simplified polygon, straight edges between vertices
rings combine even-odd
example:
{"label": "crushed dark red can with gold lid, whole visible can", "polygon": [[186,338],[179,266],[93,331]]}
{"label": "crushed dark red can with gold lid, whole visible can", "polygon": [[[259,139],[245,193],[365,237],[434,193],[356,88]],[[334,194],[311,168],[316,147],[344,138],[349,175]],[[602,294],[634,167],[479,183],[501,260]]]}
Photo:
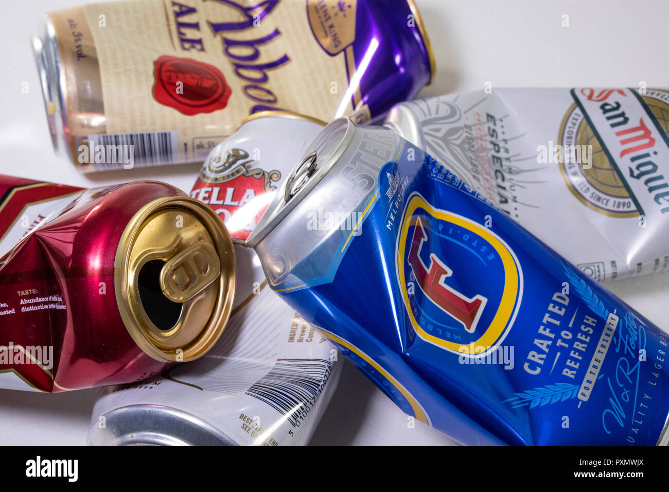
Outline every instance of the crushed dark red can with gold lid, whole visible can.
{"label": "crushed dark red can with gold lid, whole visible can", "polygon": [[81,189],[0,175],[0,388],[145,379],[223,332],[235,253],[203,203],[157,181]]}

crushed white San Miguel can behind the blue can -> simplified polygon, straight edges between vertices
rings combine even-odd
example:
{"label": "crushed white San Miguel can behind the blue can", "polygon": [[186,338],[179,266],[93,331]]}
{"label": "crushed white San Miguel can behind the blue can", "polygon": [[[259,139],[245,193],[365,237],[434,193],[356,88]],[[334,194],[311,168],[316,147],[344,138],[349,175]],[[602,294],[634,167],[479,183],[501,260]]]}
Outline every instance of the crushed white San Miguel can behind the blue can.
{"label": "crushed white San Miguel can behind the blue can", "polygon": [[669,270],[669,90],[494,89],[386,125],[597,281]]}

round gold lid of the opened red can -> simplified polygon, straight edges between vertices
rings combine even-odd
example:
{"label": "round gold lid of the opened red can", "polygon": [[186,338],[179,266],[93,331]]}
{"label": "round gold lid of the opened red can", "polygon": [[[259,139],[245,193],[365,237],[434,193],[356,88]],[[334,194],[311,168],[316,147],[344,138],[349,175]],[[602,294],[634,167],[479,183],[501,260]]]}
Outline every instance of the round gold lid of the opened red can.
{"label": "round gold lid of the opened red can", "polygon": [[154,359],[201,357],[229,319],[235,252],[220,218],[191,197],[166,197],[126,226],[114,261],[116,301],[128,333]]}

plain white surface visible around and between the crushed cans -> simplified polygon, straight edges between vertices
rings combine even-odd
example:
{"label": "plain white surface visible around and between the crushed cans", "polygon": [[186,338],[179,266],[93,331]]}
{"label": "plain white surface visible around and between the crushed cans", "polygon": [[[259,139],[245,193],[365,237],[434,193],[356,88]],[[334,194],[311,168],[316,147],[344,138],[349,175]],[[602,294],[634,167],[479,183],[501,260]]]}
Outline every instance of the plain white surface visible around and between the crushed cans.
{"label": "plain white surface visible around and between the crushed cans", "polygon": [[[289,0],[284,0],[289,1]],[[303,1],[303,0],[293,0]],[[359,0],[362,1],[362,0]],[[367,0],[369,1],[369,0]],[[378,0],[383,1],[383,0]],[[666,0],[416,0],[438,73],[421,96],[512,86],[669,86]],[[0,173],[96,187],[159,179],[190,191],[198,164],[81,175],[54,157],[28,42],[47,11],[78,0],[3,0],[0,20]],[[562,27],[569,15],[569,27]],[[21,84],[28,82],[28,94]],[[669,329],[669,275],[608,284]],[[2,327],[0,327],[0,330]],[[97,390],[0,390],[0,444],[84,444]],[[406,416],[347,363],[312,444],[452,444]]]}

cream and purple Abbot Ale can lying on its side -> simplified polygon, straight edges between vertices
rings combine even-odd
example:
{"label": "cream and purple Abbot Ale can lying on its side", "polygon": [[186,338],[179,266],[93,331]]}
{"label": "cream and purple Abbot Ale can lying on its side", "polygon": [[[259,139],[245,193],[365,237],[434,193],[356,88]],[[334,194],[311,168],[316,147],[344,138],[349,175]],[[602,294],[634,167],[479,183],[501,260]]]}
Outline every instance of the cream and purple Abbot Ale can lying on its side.
{"label": "cream and purple Abbot Ale can lying on its side", "polygon": [[203,161],[250,114],[381,118],[434,76],[413,0],[128,0],[32,38],[56,153],[82,172]]}

